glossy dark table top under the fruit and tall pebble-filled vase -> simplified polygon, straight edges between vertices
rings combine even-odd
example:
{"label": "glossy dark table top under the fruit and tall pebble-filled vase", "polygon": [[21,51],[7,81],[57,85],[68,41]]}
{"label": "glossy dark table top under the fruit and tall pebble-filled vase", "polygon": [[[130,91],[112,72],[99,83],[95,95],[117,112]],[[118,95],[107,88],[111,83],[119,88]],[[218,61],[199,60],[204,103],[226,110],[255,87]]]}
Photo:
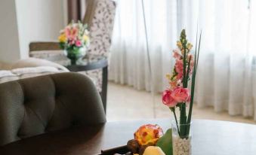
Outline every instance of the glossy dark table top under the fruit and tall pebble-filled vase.
{"label": "glossy dark table top under the fruit and tall pebble-filled vase", "polygon": [[[125,145],[134,131],[147,123],[166,131],[171,120],[110,122],[99,126],[51,132],[0,147],[0,154],[78,155],[99,154],[100,150]],[[216,120],[193,121],[193,155],[255,155],[256,125]]]}

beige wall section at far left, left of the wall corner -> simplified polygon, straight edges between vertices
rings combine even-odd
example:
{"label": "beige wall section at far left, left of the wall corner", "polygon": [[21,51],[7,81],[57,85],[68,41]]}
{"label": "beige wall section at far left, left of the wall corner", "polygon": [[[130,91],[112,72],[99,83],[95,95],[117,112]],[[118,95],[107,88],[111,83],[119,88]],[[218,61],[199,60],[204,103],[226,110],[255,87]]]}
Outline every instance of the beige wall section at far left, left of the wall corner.
{"label": "beige wall section at far left, left of the wall corner", "polygon": [[15,0],[0,2],[0,61],[14,62],[20,58]]}

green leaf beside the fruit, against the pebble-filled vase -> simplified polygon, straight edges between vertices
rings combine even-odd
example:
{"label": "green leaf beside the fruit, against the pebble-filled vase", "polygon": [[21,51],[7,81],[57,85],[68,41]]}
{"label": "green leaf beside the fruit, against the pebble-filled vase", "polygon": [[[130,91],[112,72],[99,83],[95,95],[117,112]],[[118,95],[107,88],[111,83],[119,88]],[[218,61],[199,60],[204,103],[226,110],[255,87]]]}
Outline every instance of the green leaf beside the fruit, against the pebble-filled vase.
{"label": "green leaf beside the fruit, against the pebble-filled vase", "polygon": [[168,129],[165,132],[165,135],[162,135],[161,138],[156,143],[156,146],[162,148],[165,155],[172,155],[172,139],[171,139],[171,129]]}

